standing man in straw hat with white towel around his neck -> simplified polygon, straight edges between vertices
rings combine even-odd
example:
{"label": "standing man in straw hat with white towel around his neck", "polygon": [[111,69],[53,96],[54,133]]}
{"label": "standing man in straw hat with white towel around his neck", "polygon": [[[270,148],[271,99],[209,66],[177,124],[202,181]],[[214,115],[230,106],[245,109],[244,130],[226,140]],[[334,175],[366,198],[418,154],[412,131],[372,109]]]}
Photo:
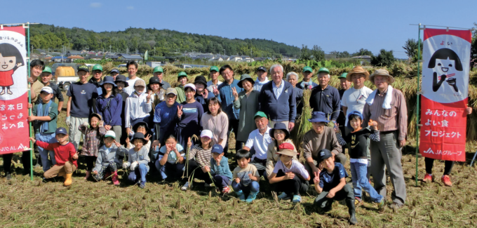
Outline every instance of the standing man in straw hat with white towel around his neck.
{"label": "standing man in straw hat with white towel around his neck", "polygon": [[380,195],[386,197],[386,167],[394,192],[393,203],[389,206],[397,210],[405,203],[405,181],[401,166],[401,148],[405,145],[408,133],[408,108],[400,90],[392,88],[394,77],[386,69],[377,69],[370,76],[377,87],[366,100],[363,110],[363,127],[371,119],[377,121],[379,142],[371,140],[371,175],[374,187]]}

